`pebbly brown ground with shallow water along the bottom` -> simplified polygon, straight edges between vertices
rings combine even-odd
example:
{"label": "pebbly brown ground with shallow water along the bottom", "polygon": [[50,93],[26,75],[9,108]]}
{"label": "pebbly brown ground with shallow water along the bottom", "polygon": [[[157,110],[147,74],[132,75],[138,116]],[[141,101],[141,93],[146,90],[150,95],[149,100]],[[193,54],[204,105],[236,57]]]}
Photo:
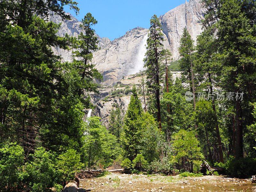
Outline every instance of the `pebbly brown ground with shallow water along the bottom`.
{"label": "pebbly brown ground with shallow water along the bottom", "polygon": [[186,191],[256,191],[256,184],[225,176],[185,177],[159,174],[109,173],[105,176],[80,181],[80,187],[92,192],[186,192]]}

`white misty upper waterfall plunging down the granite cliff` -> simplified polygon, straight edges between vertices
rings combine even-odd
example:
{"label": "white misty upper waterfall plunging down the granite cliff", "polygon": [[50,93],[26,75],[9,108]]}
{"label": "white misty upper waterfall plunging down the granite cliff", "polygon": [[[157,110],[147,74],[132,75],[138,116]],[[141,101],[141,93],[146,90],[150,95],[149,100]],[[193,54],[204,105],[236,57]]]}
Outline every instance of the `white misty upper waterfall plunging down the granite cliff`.
{"label": "white misty upper waterfall plunging down the granite cliff", "polygon": [[143,59],[145,58],[145,54],[147,52],[147,49],[146,49],[147,39],[148,39],[148,34],[145,35],[141,41],[139,51],[136,56],[135,66],[130,70],[128,75],[132,75],[145,70]]}

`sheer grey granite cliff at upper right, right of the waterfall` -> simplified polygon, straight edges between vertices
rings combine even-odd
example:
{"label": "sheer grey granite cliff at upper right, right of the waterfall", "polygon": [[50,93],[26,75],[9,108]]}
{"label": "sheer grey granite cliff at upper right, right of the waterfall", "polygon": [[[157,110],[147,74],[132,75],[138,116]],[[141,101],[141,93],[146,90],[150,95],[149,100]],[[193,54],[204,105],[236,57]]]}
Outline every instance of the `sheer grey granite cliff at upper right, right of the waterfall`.
{"label": "sheer grey granite cliff at upper right, right of the waterfall", "polygon": [[196,36],[203,31],[201,20],[204,19],[206,9],[200,1],[186,1],[185,4],[179,5],[159,18],[174,59],[179,58],[180,37],[185,27],[195,42]]}

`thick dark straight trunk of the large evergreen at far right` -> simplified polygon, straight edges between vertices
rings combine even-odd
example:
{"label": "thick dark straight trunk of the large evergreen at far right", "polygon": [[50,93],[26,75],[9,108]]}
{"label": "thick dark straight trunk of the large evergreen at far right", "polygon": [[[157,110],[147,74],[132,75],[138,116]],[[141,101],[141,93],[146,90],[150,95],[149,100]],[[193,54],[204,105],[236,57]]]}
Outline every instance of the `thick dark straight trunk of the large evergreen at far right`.
{"label": "thick dark straight trunk of the large evergreen at far right", "polygon": [[240,100],[236,102],[236,152],[235,158],[239,159],[243,154],[243,125],[242,125],[242,108]]}

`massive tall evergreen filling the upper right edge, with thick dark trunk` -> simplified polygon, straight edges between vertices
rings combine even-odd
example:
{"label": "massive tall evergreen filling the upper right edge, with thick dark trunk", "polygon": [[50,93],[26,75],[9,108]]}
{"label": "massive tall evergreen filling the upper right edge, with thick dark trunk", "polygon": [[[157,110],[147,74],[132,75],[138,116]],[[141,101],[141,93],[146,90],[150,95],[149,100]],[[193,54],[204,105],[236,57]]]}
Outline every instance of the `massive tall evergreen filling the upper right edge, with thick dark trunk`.
{"label": "massive tall evergreen filling the upper right edge, with thick dark trunk", "polygon": [[220,86],[226,92],[244,93],[243,100],[235,95],[230,101],[235,113],[235,157],[240,158],[244,156],[244,128],[252,119],[249,102],[255,101],[255,2],[205,0],[204,3],[210,5],[204,23],[212,33],[216,31],[216,56],[222,71]]}

